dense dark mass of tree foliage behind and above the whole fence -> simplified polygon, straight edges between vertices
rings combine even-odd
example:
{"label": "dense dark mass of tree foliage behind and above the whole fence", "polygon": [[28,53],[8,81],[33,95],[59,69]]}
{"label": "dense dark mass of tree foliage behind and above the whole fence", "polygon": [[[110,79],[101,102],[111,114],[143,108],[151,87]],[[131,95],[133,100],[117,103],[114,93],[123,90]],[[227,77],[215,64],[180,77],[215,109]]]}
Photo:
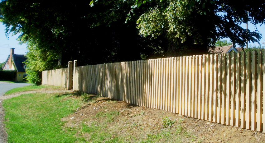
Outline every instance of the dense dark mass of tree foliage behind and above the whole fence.
{"label": "dense dark mass of tree foliage behind and above the whole fence", "polygon": [[264,2],[246,0],[0,1],[7,34],[28,44],[32,77],[58,68],[59,53],[64,66],[89,65],[203,54],[220,38],[258,42],[240,25],[264,24],[264,13]]}

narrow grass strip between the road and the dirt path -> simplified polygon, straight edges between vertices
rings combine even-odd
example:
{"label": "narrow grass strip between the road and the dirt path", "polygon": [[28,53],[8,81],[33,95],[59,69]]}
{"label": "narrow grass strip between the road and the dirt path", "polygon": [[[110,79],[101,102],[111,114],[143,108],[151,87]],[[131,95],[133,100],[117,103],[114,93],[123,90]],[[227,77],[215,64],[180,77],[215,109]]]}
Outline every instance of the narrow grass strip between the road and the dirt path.
{"label": "narrow grass strip between the road and the dirt path", "polygon": [[13,94],[16,92],[22,92],[22,91],[27,91],[27,90],[35,90],[35,89],[41,89],[41,88],[59,88],[58,86],[51,86],[51,85],[39,85],[39,86],[23,86],[23,87],[17,87],[17,88],[13,88],[12,90],[8,90],[6,93],[4,93],[4,95],[9,95],[9,94]]}

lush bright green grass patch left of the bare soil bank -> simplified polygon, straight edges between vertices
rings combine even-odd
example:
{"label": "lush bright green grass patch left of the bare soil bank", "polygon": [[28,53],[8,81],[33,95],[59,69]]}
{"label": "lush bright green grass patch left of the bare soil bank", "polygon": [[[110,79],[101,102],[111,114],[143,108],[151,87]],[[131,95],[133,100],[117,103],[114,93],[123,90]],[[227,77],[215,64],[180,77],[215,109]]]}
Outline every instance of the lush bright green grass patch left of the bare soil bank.
{"label": "lush bright green grass patch left of the bare soil bank", "polygon": [[[4,100],[8,142],[82,142],[76,130],[63,127],[63,118],[80,107],[79,99],[55,94],[26,94]],[[62,100],[64,99],[64,100]]]}

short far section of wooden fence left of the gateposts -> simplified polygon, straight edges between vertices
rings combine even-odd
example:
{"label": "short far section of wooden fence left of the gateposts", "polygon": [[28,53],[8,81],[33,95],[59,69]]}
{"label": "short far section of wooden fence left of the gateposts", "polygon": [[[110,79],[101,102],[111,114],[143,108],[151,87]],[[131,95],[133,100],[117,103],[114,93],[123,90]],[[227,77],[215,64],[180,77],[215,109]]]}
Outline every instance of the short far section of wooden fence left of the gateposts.
{"label": "short far section of wooden fence left of the gateposts", "polygon": [[54,85],[66,87],[68,80],[68,68],[42,71],[42,85]]}

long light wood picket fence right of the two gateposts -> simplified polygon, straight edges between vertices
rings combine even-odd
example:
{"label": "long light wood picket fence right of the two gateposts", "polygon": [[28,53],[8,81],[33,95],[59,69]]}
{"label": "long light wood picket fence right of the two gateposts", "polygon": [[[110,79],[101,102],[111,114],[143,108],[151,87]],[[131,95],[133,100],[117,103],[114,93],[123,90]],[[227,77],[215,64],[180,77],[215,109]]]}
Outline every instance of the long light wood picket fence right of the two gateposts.
{"label": "long light wood picket fence right of the two gateposts", "polygon": [[265,131],[265,52],[74,67],[73,90]]}

